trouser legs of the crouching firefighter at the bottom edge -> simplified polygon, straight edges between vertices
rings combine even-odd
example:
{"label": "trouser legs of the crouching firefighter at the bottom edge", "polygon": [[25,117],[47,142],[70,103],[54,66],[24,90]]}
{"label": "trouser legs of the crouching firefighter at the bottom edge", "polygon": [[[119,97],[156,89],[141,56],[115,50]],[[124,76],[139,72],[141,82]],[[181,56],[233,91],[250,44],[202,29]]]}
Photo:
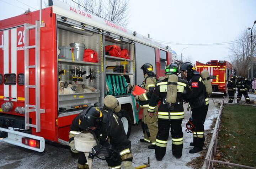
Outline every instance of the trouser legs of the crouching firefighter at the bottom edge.
{"label": "trouser legs of the crouching firefighter at the bottom edge", "polygon": [[[121,163],[122,163],[121,157],[117,161],[114,161],[113,159],[106,157],[106,162],[110,169],[121,168]],[[89,169],[84,152],[79,152],[77,167],[78,169]]]}

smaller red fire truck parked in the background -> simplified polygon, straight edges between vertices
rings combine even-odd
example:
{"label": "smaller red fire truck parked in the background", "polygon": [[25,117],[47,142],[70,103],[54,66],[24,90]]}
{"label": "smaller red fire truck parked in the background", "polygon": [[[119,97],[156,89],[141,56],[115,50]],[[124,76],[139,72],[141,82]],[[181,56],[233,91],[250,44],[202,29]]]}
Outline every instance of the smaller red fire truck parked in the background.
{"label": "smaller red fire truck parked in the background", "polygon": [[206,64],[196,61],[196,70],[208,70],[213,92],[221,92],[226,96],[226,81],[232,76],[232,65],[228,61],[211,60]]}

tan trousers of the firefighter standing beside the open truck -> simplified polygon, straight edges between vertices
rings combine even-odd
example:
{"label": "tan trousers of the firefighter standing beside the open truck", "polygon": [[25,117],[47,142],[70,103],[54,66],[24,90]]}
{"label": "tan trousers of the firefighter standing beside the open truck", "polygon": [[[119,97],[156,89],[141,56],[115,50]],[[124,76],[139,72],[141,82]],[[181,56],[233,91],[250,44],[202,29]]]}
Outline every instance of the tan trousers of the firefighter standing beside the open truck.
{"label": "tan trousers of the firefighter standing beside the open truck", "polygon": [[153,117],[150,117],[148,108],[143,108],[142,131],[144,140],[155,145],[156,134],[158,132],[157,116],[154,113]]}

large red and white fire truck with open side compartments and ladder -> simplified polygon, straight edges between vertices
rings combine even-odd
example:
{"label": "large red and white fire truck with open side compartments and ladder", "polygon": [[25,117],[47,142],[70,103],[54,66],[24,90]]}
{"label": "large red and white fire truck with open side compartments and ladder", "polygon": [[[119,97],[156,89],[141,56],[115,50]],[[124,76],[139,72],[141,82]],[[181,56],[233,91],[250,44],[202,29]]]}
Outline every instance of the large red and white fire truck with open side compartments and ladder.
{"label": "large red and white fire truck with open side compartments and ladder", "polygon": [[[81,59],[81,44],[97,52],[98,62]],[[125,49],[128,57],[106,53],[109,45]],[[135,98],[121,86],[140,85],[144,63],[163,76],[170,61],[165,45],[58,0],[2,20],[0,141],[38,152],[44,151],[45,139],[68,145],[72,120],[90,105],[103,106],[110,81],[116,87],[111,94],[127,111],[119,116],[129,135],[141,115]],[[124,70],[107,69],[118,66]]]}

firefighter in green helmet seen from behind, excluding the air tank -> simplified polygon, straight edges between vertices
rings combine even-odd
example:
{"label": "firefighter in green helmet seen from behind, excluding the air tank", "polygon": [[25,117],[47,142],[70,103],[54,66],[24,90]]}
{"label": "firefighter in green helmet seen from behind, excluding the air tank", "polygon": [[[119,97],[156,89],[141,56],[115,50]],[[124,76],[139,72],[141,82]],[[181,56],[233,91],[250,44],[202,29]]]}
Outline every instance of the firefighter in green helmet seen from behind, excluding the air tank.
{"label": "firefighter in green helmet seen from behind, excluding the air tank", "polygon": [[[191,89],[187,82],[178,78],[177,97],[172,109],[169,109],[166,104],[168,75],[176,75],[179,72],[178,66],[174,63],[168,65],[165,69],[167,75],[163,80],[156,83],[156,88],[150,98],[148,112],[154,113],[159,100],[161,104],[158,108],[158,133],[156,136],[155,157],[157,160],[162,160],[166,153],[167,140],[171,128],[172,136],[172,154],[176,158],[182,156],[183,148],[183,132],[181,128],[182,119],[184,119],[183,100],[188,101],[191,94]],[[172,82],[174,83],[174,82]],[[170,82],[171,84],[171,82]],[[155,115],[156,113],[154,113]]]}

